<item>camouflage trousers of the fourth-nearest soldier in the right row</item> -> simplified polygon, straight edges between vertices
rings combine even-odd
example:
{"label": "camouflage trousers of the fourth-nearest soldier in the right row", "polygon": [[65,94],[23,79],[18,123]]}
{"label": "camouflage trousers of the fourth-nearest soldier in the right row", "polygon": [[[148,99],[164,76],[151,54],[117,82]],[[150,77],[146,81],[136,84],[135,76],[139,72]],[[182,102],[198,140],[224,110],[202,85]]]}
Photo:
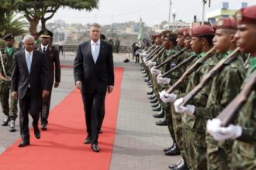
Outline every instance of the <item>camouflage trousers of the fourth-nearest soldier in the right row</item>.
{"label": "camouflage trousers of the fourth-nearest soldier in the right row", "polygon": [[175,107],[171,104],[171,116],[172,116],[172,124],[173,130],[175,132],[175,139],[178,145],[179,151],[181,151],[182,156],[185,156],[183,149],[183,134],[182,134],[182,114],[178,114],[175,112]]}

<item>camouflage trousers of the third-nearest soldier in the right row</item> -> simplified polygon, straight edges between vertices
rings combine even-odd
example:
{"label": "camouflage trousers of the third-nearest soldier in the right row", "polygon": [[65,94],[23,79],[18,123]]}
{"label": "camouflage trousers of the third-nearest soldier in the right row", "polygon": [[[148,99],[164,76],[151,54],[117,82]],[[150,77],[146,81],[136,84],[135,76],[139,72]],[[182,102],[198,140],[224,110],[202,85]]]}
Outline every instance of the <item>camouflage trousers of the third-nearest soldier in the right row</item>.
{"label": "camouflage trousers of the third-nearest soldier in the right row", "polygon": [[189,128],[182,129],[184,142],[183,148],[185,151],[185,158],[189,158],[187,164],[189,169],[206,170],[206,134],[202,131],[192,131]]}

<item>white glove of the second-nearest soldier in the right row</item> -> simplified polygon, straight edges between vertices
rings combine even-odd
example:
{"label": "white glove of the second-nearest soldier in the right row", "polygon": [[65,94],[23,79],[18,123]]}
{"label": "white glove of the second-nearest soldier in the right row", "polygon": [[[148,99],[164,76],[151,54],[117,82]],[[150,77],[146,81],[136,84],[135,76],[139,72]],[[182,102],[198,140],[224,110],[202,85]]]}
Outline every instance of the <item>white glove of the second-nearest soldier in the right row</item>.
{"label": "white glove of the second-nearest soldier in the right row", "polygon": [[183,98],[179,98],[175,101],[175,111],[180,114],[184,113],[192,116],[195,113],[195,106],[190,104],[187,104],[185,107],[181,106],[183,101]]}

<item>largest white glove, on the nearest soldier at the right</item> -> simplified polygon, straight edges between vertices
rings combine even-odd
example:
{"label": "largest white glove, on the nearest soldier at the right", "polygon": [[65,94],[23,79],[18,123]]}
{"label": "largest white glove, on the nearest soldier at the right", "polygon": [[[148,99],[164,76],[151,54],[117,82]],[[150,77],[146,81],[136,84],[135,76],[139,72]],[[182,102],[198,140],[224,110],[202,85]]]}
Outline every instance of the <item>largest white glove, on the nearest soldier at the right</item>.
{"label": "largest white glove, on the nearest soldier at the right", "polygon": [[207,131],[209,131],[209,134],[211,134],[216,141],[223,141],[230,138],[235,139],[242,135],[242,128],[238,125],[230,124],[227,128],[220,126],[213,128],[213,124],[216,124],[216,122],[207,121]]}

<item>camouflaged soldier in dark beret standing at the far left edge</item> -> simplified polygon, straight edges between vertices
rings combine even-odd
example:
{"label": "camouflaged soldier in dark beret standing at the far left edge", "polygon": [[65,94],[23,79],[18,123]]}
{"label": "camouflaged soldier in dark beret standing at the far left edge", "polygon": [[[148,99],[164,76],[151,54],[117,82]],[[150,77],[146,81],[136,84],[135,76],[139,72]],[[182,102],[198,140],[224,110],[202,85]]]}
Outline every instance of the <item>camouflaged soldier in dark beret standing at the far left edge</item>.
{"label": "camouflaged soldier in dark beret standing at the far left edge", "polygon": [[2,104],[2,112],[5,114],[5,120],[2,126],[7,126],[10,121],[10,131],[16,131],[15,121],[17,118],[18,100],[13,99],[11,95],[11,104],[9,105],[9,95],[11,87],[12,59],[13,54],[19,50],[13,47],[14,37],[12,34],[4,36],[5,49],[1,49],[2,55],[0,60],[0,101]]}

